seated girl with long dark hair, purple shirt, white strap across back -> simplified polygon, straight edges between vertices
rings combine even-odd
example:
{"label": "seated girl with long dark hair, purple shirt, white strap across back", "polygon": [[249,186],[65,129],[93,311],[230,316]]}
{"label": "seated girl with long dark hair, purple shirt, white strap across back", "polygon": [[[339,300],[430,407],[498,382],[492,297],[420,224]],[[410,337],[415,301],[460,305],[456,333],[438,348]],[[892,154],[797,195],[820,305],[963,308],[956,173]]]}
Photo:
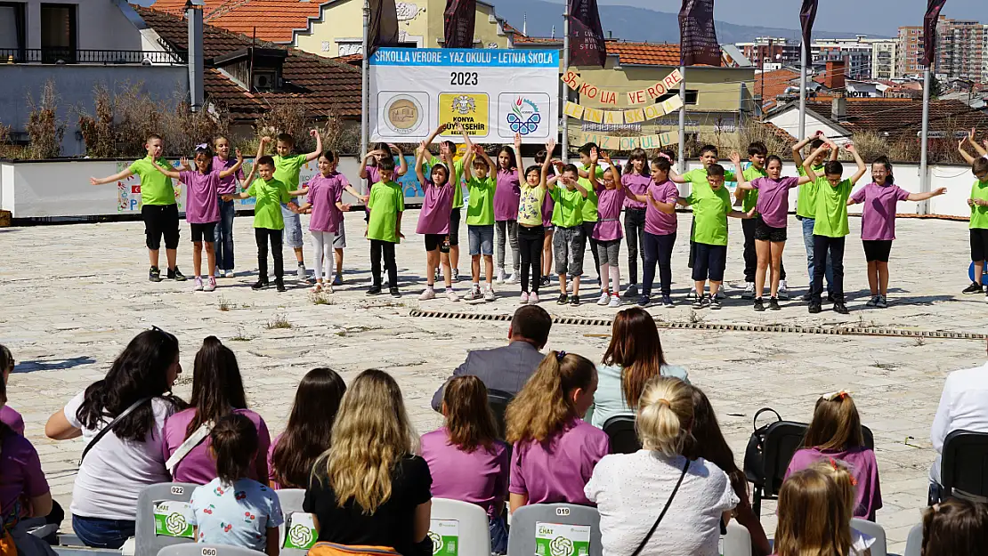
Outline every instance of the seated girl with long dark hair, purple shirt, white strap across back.
{"label": "seated girl with long dark hair, purple shirt, white strap across back", "polygon": [[216,478],[216,465],[209,457],[209,430],[230,413],[246,416],[257,428],[260,451],[247,476],[255,481],[268,480],[268,426],[260,415],[247,409],[237,357],[215,336],[207,337],[196,354],[190,405],[165,420],[166,466],[174,481],[205,485]]}

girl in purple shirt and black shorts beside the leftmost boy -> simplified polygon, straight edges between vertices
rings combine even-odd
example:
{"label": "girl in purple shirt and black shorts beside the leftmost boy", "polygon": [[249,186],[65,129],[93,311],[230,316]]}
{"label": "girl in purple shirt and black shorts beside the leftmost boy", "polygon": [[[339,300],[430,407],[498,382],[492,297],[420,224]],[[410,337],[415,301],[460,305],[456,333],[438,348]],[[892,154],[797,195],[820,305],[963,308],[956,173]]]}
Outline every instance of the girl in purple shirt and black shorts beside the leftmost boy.
{"label": "girl in purple shirt and black shorts beside the leftmost boy", "polygon": [[[182,170],[176,171],[164,168],[153,162],[158,172],[169,178],[178,178],[186,185],[186,220],[192,227],[192,264],[196,271],[194,291],[212,291],[216,289],[216,254],[212,243],[216,236],[216,222],[219,221],[219,182],[233,176],[243,165],[244,157],[237,149],[237,162],[233,166],[221,169],[212,165],[212,149],[206,143],[196,147],[193,161],[196,169],[189,166],[189,160],[182,159]],[[203,243],[206,243],[206,270],[209,281],[203,284]]]}

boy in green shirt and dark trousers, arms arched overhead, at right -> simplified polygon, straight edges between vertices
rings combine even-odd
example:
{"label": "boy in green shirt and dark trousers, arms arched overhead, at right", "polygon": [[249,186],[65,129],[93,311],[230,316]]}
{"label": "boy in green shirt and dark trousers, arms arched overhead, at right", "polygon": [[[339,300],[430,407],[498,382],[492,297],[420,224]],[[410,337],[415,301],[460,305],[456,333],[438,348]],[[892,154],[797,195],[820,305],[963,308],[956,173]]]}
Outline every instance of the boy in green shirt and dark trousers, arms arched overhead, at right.
{"label": "boy in green shirt and dark trousers, arms arched overhead, at right", "polygon": [[809,312],[819,313],[821,310],[823,278],[826,274],[825,261],[829,251],[830,258],[827,262],[834,269],[834,279],[830,282],[833,289],[834,311],[846,315],[849,311],[844,304],[844,240],[851,233],[848,229],[848,199],[855,184],[864,176],[866,168],[861,155],[858,154],[858,149],[848,143],[844,146],[844,150],[850,152],[858,163],[858,171],[855,175],[850,180],[842,180],[844,165],[832,160],[824,166],[824,177],[818,177],[813,170],[813,161],[828,148],[831,147],[821,145],[808,160],[803,162],[803,171],[811,180],[816,181],[817,189],[816,210],[813,214],[813,260],[819,264],[813,269]]}

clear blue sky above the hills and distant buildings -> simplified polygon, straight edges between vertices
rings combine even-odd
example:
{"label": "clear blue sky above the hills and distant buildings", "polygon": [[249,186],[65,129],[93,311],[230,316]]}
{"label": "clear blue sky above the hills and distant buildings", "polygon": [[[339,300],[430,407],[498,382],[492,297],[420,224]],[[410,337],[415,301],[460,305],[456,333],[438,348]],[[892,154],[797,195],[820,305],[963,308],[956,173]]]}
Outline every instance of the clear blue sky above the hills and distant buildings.
{"label": "clear blue sky above the hills and distant buildings", "polygon": [[[661,12],[679,12],[680,0],[599,0]],[[718,21],[740,25],[799,28],[799,0],[714,0]],[[814,31],[847,31],[896,36],[899,26],[923,25],[926,0],[821,0]],[[988,0],[947,0],[943,15],[988,24]]]}

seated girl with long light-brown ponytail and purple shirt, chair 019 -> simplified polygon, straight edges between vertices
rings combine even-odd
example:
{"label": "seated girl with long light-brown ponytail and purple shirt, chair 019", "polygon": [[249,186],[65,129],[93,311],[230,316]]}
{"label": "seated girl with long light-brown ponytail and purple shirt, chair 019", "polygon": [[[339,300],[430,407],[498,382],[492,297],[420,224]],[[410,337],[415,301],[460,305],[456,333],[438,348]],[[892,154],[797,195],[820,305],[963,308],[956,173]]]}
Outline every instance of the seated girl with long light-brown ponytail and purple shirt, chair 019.
{"label": "seated girl with long light-brown ponytail and purple shirt, chair 019", "polygon": [[596,389],[597,367],[590,359],[550,352],[508,404],[512,512],[528,504],[592,506],[583,487],[610,451],[608,436],[580,419]]}

